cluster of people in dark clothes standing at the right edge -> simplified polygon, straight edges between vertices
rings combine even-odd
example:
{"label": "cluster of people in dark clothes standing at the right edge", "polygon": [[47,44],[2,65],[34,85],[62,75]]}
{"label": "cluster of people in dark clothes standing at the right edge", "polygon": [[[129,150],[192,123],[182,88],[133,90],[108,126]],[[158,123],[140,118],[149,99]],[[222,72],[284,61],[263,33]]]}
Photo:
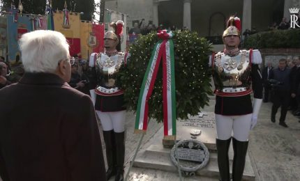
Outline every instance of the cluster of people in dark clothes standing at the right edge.
{"label": "cluster of people in dark clothes standing at the right edge", "polygon": [[[278,68],[273,68],[271,62],[262,71],[264,80],[264,102],[273,102],[271,122],[276,122],[279,107],[280,123],[287,127],[285,116],[291,111],[294,116],[300,116],[300,57],[292,60],[280,59]],[[300,120],[299,120],[300,122]]]}

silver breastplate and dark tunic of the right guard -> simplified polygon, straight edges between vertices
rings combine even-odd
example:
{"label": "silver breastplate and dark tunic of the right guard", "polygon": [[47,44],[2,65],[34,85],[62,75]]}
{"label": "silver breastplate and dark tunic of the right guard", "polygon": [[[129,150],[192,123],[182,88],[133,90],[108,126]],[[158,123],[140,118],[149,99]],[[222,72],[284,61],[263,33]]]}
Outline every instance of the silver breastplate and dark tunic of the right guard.
{"label": "silver breastplate and dark tunic of the right guard", "polygon": [[[213,81],[216,87],[215,113],[223,116],[253,112],[250,93],[262,99],[262,76],[258,50],[240,50],[235,56],[218,52],[211,56]],[[252,88],[251,88],[252,84]]]}

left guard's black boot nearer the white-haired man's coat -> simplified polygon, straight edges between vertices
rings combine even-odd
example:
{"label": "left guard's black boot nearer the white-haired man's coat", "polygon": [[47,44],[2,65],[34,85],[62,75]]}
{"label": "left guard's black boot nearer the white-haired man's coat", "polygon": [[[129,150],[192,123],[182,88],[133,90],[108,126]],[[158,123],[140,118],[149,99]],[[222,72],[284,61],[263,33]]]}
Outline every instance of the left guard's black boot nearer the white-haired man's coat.
{"label": "left guard's black boot nearer the white-haired man's coat", "polygon": [[103,138],[106,147],[107,171],[106,178],[110,180],[113,175],[116,175],[116,148],[114,146],[114,130],[103,131]]}

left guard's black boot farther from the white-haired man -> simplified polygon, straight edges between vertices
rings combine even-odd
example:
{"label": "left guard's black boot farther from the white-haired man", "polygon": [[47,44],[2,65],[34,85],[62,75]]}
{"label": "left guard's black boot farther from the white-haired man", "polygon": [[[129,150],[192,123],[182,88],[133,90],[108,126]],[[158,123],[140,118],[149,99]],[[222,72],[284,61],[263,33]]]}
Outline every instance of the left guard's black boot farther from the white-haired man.
{"label": "left guard's black boot farther from the white-haired man", "polygon": [[115,181],[123,181],[123,166],[125,159],[125,140],[124,132],[115,132],[115,145],[116,145],[116,155],[117,155],[117,175],[114,178]]}

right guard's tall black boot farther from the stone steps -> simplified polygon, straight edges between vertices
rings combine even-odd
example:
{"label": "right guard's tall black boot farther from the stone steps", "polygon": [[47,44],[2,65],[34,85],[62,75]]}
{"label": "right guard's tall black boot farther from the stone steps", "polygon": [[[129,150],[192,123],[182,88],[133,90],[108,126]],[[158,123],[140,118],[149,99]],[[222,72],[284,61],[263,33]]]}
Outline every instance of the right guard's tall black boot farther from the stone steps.
{"label": "right guard's tall black boot farther from the stone steps", "polygon": [[233,165],[232,165],[232,181],[241,181],[243,178],[243,168],[245,168],[245,160],[249,141],[238,141],[232,138],[233,145]]}

